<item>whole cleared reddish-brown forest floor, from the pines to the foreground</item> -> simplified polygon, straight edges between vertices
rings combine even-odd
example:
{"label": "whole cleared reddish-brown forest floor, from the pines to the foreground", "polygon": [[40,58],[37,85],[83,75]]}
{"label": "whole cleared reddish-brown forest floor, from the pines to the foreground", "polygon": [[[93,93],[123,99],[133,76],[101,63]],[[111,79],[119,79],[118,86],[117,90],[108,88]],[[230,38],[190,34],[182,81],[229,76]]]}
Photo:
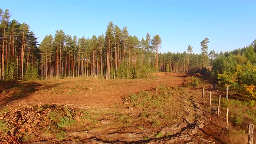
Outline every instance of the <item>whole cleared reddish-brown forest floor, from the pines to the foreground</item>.
{"label": "whole cleared reddish-brown forest floor, from the pines to the foreground", "polygon": [[200,78],[201,84],[188,86],[189,76],[160,73],[158,80],[69,78],[1,83],[0,142],[246,144],[246,124],[238,127],[230,122],[226,131],[224,104],[220,116],[216,115],[217,96],[224,95],[224,90],[213,92],[209,107],[212,84]]}

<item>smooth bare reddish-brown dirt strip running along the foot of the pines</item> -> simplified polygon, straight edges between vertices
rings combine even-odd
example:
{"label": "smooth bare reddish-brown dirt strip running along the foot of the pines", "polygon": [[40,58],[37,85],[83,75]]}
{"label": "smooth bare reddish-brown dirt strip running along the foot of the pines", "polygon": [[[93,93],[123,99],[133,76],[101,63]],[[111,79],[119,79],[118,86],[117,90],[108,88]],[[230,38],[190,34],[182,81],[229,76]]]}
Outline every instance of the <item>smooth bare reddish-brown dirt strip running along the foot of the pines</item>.
{"label": "smooth bare reddish-brown dirt strip running along the foot of the pines", "polygon": [[[24,82],[24,87],[15,98],[3,93],[8,84],[1,85],[0,107],[44,103],[73,105],[80,108],[106,108],[120,103],[125,96],[147,91],[158,85],[181,85],[182,79],[187,76],[184,74],[170,75],[173,74],[162,74],[157,80],[69,78]],[[15,91],[15,89],[9,90]]]}

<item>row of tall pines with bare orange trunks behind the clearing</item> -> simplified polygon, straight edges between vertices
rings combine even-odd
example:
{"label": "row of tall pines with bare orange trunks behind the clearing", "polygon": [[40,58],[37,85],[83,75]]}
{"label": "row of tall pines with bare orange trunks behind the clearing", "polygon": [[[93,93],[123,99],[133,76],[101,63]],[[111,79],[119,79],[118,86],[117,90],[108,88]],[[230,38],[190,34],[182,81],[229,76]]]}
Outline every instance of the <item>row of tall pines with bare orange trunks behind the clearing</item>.
{"label": "row of tall pines with bare orange trunks behind the clearing", "polygon": [[183,53],[158,53],[159,35],[151,38],[147,33],[145,38],[138,39],[128,33],[127,27],[120,29],[112,22],[108,23],[105,35],[77,38],[57,30],[54,36],[47,35],[38,44],[30,26],[10,21],[8,10],[0,9],[0,20],[1,80],[140,79],[152,78],[156,68],[161,72],[206,72],[218,56],[226,53],[212,50],[208,54],[207,38],[201,42],[200,54],[192,53],[192,46]]}

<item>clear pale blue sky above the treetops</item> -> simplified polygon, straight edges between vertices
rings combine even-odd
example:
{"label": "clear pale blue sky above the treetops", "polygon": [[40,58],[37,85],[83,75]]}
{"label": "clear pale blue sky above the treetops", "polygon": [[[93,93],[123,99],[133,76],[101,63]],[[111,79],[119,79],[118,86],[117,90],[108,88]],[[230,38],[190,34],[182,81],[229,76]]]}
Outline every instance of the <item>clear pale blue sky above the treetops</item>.
{"label": "clear pale blue sky above the treetops", "polygon": [[209,50],[230,51],[256,39],[256,0],[3,0],[11,20],[27,23],[41,42],[62,29],[66,34],[105,34],[108,22],[139,39],[147,32],[162,39],[161,52],[183,52],[208,37]]}

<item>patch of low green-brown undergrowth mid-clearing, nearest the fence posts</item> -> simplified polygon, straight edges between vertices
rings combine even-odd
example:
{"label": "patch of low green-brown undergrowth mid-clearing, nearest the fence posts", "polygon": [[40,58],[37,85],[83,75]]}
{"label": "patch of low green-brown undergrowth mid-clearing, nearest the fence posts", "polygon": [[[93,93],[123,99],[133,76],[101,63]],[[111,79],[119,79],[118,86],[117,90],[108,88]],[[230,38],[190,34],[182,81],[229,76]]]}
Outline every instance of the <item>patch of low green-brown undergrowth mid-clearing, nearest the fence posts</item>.
{"label": "patch of low green-brown undergrowth mid-clearing, nearest the fence posts", "polygon": [[174,95],[179,95],[181,88],[158,86],[152,91],[142,91],[125,98],[125,103],[131,104],[142,111],[138,118],[147,119],[152,128],[158,128],[164,124],[178,121],[179,114],[175,109],[179,104]]}

